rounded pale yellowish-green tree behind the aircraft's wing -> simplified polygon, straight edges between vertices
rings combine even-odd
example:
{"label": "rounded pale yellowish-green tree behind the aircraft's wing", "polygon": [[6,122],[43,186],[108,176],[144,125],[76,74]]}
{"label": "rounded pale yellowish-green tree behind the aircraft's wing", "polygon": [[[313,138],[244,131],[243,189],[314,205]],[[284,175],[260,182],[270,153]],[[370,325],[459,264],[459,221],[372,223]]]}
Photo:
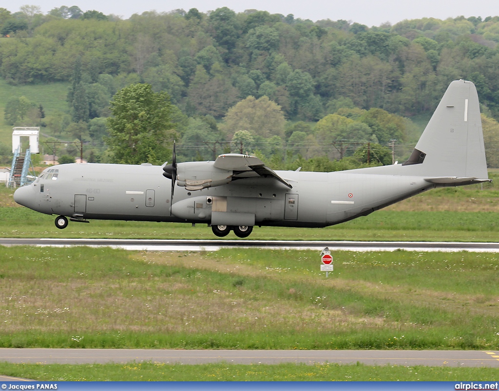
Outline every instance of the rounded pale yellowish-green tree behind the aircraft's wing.
{"label": "rounded pale yellowish-green tree behind the aircraft's wing", "polygon": [[221,128],[228,134],[247,130],[262,137],[283,136],[285,122],[282,110],[275,102],[265,96],[260,99],[250,96],[229,109]]}

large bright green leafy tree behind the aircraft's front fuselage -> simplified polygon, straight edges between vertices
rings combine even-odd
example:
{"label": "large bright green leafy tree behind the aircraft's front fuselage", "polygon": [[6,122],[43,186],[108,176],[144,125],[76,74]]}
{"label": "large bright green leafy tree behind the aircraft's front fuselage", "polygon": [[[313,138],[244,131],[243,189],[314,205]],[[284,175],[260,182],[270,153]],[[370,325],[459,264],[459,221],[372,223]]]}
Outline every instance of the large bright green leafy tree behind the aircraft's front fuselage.
{"label": "large bright green leafy tree behind the aircraft's front fuselage", "polygon": [[107,144],[114,163],[161,164],[169,159],[176,134],[170,123],[170,98],[150,84],[136,83],[118,91],[107,119]]}

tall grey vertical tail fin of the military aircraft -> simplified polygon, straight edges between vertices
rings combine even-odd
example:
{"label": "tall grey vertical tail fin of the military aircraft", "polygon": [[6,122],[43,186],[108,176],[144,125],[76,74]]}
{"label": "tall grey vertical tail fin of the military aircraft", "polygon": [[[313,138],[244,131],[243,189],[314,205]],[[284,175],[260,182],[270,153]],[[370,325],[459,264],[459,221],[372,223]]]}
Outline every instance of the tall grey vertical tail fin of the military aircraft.
{"label": "tall grey vertical tail fin of the military aircraft", "polygon": [[480,105],[475,85],[453,81],[409,159],[404,174],[488,178]]}

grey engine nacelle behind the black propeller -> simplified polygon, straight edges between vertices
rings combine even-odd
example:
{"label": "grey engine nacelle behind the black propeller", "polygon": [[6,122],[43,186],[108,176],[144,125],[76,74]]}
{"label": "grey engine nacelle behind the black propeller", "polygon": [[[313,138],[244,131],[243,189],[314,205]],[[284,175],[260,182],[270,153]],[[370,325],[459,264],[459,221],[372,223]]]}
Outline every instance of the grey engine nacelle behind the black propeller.
{"label": "grey engine nacelle behind the black propeller", "polygon": [[189,161],[177,164],[177,185],[187,190],[201,190],[226,185],[232,180],[232,170],[213,166],[213,161]]}

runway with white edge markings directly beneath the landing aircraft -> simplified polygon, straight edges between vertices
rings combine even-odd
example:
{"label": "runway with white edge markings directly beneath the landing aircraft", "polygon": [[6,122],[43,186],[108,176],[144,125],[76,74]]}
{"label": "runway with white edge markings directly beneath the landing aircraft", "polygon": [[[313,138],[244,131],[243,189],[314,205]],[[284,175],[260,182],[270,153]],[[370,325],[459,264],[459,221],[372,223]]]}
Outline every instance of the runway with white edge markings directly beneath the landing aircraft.
{"label": "runway with white edge markings directly beneath the landing aircraft", "polygon": [[351,242],[351,241],[262,241],[262,240],[149,240],[149,239],[38,239],[0,238],[0,246],[89,246],[142,251],[217,251],[222,248],[332,251],[441,251],[499,253],[499,243],[478,242]]}

